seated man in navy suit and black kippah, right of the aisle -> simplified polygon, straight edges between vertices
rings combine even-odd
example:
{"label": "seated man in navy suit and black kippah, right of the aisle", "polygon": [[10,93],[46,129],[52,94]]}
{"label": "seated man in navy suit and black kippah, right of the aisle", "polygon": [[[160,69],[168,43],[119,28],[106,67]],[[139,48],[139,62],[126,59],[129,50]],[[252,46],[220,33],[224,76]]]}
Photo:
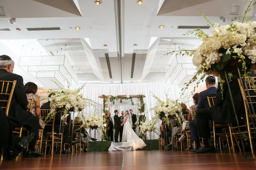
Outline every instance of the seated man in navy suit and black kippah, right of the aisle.
{"label": "seated man in navy suit and black kippah, right of the aisle", "polygon": [[[213,76],[206,77],[205,86],[207,89],[205,91],[202,91],[199,93],[196,113],[200,109],[209,107],[209,103],[207,100],[208,96],[216,96],[217,88],[215,87],[215,83],[216,83],[215,77],[213,77]],[[206,124],[209,127],[208,120],[206,121]],[[191,141],[194,141],[195,145],[196,145],[194,149],[191,149],[191,151],[198,150],[201,147],[199,138],[197,135],[197,127],[198,127],[197,118],[193,119],[192,121],[189,122],[189,129],[190,129],[190,133],[191,133],[190,139],[191,139]]]}

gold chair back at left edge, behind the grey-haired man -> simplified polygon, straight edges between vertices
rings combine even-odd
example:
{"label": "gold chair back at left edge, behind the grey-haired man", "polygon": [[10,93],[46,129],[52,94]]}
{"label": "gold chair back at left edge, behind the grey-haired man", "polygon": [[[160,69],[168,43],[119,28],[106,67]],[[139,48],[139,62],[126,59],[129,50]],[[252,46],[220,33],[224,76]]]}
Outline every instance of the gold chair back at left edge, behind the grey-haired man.
{"label": "gold chair back at left edge, behind the grey-haired man", "polygon": [[[13,97],[14,88],[17,81],[0,81],[0,105],[5,110],[6,115],[9,114],[11,99]],[[3,99],[3,100],[2,100]],[[2,104],[3,103],[3,104]]]}

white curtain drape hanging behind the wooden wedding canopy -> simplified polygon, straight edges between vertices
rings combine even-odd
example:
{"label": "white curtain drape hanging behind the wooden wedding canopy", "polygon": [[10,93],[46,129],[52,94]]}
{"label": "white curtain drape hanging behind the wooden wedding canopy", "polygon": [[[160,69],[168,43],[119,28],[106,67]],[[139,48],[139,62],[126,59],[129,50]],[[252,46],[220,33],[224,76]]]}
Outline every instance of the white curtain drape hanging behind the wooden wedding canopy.
{"label": "white curtain drape hanging behind the wooden wedding canopy", "polygon": [[[78,86],[72,86],[71,90],[78,88]],[[147,120],[151,120],[154,117],[154,111],[149,111],[150,108],[155,106],[156,100],[151,96],[151,93],[155,94],[161,100],[165,100],[165,93],[168,93],[173,100],[176,100],[178,97],[178,86],[165,84],[164,82],[154,82],[154,83],[127,83],[127,84],[86,84],[85,87],[81,90],[80,93],[84,97],[94,100],[99,103],[95,108],[93,106],[87,106],[85,111],[86,113],[93,113],[96,109],[98,116],[101,115],[103,99],[100,99],[100,95],[139,95],[143,94],[145,102],[145,113]],[[138,105],[134,104],[124,104],[124,105],[114,105],[110,107],[111,114],[114,115],[114,110],[119,111],[119,116],[121,116],[121,111],[126,111],[132,109],[133,113],[137,115]],[[147,113],[148,112],[148,113]],[[75,114],[76,116],[76,114]],[[73,115],[71,115],[73,117]],[[156,124],[156,127],[159,129],[161,122]],[[138,129],[136,131],[138,134]],[[91,137],[94,137],[94,130],[91,131]],[[99,135],[96,133],[96,139],[100,140]],[[149,139],[149,134],[147,134]],[[151,139],[158,139],[159,135],[152,133]]]}

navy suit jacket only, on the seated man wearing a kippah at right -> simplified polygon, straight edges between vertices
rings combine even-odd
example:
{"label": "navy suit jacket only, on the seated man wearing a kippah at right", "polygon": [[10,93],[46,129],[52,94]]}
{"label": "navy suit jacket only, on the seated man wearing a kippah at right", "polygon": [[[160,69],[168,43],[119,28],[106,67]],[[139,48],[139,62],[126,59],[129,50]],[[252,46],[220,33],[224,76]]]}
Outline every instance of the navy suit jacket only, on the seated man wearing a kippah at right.
{"label": "navy suit jacket only, on the seated man wearing a kippah at right", "polygon": [[206,89],[204,91],[201,91],[199,93],[198,105],[197,105],[197,109],[195,111],[198,112],[198,110],[200,110],[200,109],[209,107],[207,97],[208,96],[209,97],[216,96],[216,92],[217,92],[217,88],[214,86],[209,87],[208,89]]}

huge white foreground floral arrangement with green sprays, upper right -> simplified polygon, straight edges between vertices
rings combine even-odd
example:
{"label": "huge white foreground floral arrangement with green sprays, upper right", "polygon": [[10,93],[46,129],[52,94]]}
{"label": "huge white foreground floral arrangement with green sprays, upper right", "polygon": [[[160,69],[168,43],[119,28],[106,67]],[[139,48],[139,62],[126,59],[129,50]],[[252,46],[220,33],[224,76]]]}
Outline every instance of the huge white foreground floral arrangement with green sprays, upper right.
{"label": "huge white foreground floral arrangement with green sprays, upper right", "polygon": [[229,79],[232,76],[238,78],[237,66],[239,67],[239,71],[241,70],[240,72],[242,72],[241,76],[246,77],[248,82],[256,86],[256,80],[250,77],[249,72],[250,69],[255,70],[256,68],[256,22],[249,21],[249,17],[245,19],[246,13],[251,10],[250,7],[255,5],[256,2],[252,4],[253,0],[248,1],[249,5],[243,13],[243,18],[237,21],[235,21],[235,18],[230,25],[219,26],[217,23],[211,23],[203,15],[202,11],[198,9],[207,20],[208,25],[213,27],[211,31],[212,35],[204,33],[200,28],[195,28],[193,31],[188,31],[184,35],[194,33],[198,38],[202,39],[201,45],[194,50],[179,49],[168,53],[193,56],[192,61],[196,66],[197,72],[188,83],[185,83],[186,87],[182,89],[183,93],[192,82],[197,80],[198,75],[202,75],[202,77],[196,83],[191,94],[206,75],[213,75],[218,77],[223,94],[222,87],[226,81],[226,73],[229,75]]}

